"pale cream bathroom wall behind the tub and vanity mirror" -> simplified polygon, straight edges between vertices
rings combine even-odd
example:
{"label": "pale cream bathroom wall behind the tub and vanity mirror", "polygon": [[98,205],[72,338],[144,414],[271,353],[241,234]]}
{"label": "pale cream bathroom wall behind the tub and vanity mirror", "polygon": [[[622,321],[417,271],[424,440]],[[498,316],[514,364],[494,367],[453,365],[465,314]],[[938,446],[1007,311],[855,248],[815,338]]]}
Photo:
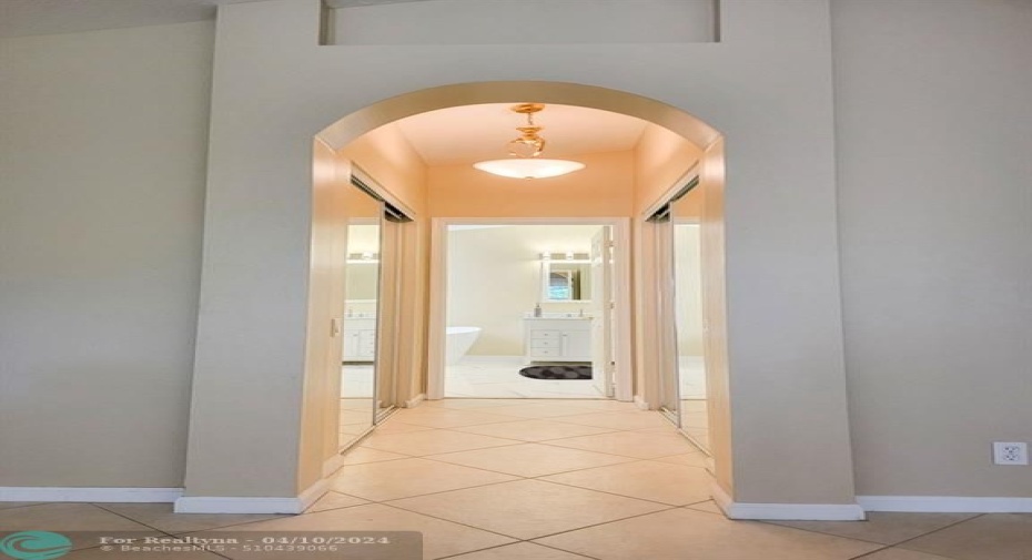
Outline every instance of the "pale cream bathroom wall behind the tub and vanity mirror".
{"label": "pale cream bathroom wall behind the tub and vanity mirror", "polygon": [[448,233],[451,326],[480,327],[471,355],[523,356],[524,314],[542,303],[556,313],[591,312],[590,303],[542,302],[546,252],[590,253],[598,225],[515,225]]}

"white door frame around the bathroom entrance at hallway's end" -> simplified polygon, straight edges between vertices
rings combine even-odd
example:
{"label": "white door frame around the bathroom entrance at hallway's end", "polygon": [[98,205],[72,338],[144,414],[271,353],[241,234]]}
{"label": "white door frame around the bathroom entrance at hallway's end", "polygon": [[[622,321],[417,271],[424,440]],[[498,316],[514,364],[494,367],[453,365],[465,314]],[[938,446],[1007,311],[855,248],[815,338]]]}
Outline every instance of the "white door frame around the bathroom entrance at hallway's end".
{"label": "white door frame around the bathroom entrance at hallway's end", "polygon": [[613,348],[614,398],[634,400],[634,362],[631,349],[631,267],[630,217],[435,217],[431,225],[431,285],[427,336],[426,398],[444,398],[445,330],[447,328],[449,225],[608,225],[613,227],[616,255],[613,278],[617,314]]}

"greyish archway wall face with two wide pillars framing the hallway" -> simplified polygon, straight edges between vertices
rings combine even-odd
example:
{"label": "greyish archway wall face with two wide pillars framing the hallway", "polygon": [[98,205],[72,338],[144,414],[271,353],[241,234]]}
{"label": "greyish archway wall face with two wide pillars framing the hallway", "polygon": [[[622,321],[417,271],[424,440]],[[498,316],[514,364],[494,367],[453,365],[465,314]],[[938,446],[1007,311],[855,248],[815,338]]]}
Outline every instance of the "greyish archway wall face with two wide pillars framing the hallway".
{"label": "greyish archway wall face with two wide pillars framing the hallway", "polygon": [[[354,49],[317,45],[314,0],[221,7],[202,282],[202,305],[212,312],[202,314],[199,326],[195,387],[205,396],[195,403],[194,418],[203,421],[195,421],[192,431],[216,426],[246,426],[245,434],[275,431],[269,426],[277,421],[275,415],[230,416],[220,407],[230,399],[247,401],[259,390],[274,394],[266,380],[275,386],[303,370],[313,132],[388,98],[393,99],[326,130],[327,141],[336,146],[355,132],[408,111],[475,99],[522,101],[530,93],[546,103],[656,119],[686,135],[709,139],[700,145],[717,138],[665,102],[690,111],[731,142],[725,201],[731,255],[728,340],[736,379],[730,386],[736,452],[728,460],[735,462],[735,498],[849,503],[853,488],[838,284],[828,6],[815,0],[725,0],[721,18],[724,41],[718,48]],[[270,34],[277,40],[266,41]],[[646,59],[650,63],[641,64]],[[426,71],[429,68],[433,72]],[[363,79],[368,75],[377,79]],[[686,78],[700,75],[706,80]],[[403,95],[487,80],[589,83],[601,89],[534,82],[502,89],[482,83],[465,92],[443,88]],[[249,100],[246,105],[241,105],[242,99]],[[792,173],[782,173],[786,169]],[[482,202],[488,208],[510,204],[500,195]],[[241,227],[252,222],[263,226]],[[792,247],[791,266],[769,266],[767,255],[776,247]],[[260,274],[270,265],[281,274]],[[241,278],[252,282],[241,286]],[[805,291],[799,289],[802,278]],[[243,314],[250,302],[273,297],[281,305],[253,317]],[[771,390],[770,376],[786,383]],[[750,390],[757,386],[765,391]],[[291,393],[280,394],[281,406],[300,406],[297,399],[289,399]],[[204,475],[200,491],[246,496],[281,488],[273,479],[294,480],[292,470],[270,468],[241,482],[244,465],[235,457],[250,455],[257,441],[236,436],[223,438],[217,447],[191,446],[198,454],[188,470],[204,466],[196,470]],[[286,444],[296,447],[296,441],[277,438],[272,448],[267,442],[262,439],[265,452]],[[189,480],[188,491],[193,491]]]}

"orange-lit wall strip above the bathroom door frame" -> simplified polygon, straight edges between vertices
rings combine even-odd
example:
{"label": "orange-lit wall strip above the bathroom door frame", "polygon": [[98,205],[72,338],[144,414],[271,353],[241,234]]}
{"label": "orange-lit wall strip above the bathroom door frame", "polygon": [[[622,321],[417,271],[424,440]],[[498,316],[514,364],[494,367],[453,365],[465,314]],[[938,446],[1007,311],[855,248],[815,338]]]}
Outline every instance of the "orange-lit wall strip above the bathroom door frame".
{"label": "orange-lit wall strip above the bathroom door frame", "polygon": [[587,167],[547,180],[515,181],[473,165],[429,169],[429,213],[442,217],[627,216],[634,201],[634,152],[585,154]]}

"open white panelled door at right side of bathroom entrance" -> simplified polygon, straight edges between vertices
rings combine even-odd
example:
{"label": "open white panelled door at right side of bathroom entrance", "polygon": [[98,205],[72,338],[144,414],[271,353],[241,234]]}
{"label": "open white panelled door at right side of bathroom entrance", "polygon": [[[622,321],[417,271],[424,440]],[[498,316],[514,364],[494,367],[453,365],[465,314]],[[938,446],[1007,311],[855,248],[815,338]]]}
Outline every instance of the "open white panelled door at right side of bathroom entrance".
{"label": "open white panelled door at right side of bathroom entrance", "polygon": [[591,238],[591,380],[600,396],[613,396],[613,233]]}

